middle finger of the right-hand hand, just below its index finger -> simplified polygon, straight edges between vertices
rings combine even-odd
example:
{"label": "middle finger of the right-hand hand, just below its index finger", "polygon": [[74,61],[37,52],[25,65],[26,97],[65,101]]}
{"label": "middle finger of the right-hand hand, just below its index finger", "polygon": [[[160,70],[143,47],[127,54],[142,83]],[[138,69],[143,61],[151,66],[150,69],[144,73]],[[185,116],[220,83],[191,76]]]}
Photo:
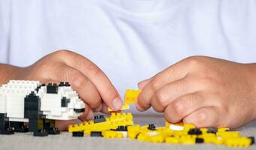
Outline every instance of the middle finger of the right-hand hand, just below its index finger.
{"label": "middle finger of the right-hand hand, just below its index finger", "polygon": [[[204,86],[192,77],[185,77],[184,79],[177,80],[160,88],[154,93],[150,103],[154,110],[163,112],[167,105],[171,104],[175,99],[200,91],[203,87]],[[141,104],[141,106],[143,105],[145,104]]]}

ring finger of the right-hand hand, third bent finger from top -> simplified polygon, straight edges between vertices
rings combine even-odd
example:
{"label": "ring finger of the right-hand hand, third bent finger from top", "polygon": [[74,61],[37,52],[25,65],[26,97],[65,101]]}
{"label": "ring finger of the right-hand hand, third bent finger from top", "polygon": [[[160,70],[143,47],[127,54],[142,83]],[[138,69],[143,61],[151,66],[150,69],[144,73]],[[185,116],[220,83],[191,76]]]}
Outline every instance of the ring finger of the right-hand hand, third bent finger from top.
{"label": "ring finger of the right-hand hand, third bent finger from top", "polygon": [[165,117],[169,122],[181,121],[200,108],[213,106],[214,101],[211,100],[211,98],[206,99],[206,95],[201,92],[181,96],[166,107]]}

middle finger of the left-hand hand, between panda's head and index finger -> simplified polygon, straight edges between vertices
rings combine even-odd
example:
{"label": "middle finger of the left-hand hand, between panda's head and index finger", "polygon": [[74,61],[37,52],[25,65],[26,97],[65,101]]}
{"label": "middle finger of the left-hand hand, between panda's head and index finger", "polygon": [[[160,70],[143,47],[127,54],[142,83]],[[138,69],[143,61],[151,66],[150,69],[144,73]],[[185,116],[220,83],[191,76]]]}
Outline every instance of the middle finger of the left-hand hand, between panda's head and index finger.
{"label": "middle finger of the left-hand hand, between panda's head and index finger", "polygon": [[68,81],[78,92],[79,97],[92,109],[99,107],[102,103],[99,92],[93,83],[75,68],[59,64],[48,78],[55,81]]}

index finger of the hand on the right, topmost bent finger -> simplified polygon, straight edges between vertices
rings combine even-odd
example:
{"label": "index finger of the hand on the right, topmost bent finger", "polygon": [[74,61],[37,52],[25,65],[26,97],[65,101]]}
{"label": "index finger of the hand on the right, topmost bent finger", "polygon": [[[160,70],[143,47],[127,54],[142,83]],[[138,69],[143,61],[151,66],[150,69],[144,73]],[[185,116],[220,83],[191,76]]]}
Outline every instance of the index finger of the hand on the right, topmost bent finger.
{"label": "index finger of the hand on the right, topmost bent finger", "polygon": [[148,108],[151,107],[151,97],[155,92],[157,92],[157,90],[168,83],[172,83],[186,77],[189,71],[187,66],[188,65],[184,65],[184,63],[181,62],[177,63],[160,72],[153,79],[151,79],[138,97],[137,105],[142,108],[142,111],[148,110]]}

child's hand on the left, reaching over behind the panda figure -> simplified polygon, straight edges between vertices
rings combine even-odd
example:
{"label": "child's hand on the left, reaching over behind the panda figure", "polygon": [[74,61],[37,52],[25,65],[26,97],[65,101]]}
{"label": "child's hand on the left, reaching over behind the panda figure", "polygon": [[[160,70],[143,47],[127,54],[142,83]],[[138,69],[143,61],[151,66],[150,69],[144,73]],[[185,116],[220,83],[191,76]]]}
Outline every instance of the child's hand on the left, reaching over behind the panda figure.
{"label": "child's hand on the left, reaching over behind the panda figure", "polygon": [[108,77],[93,62],[69,50],[59,50],[46,55],[27,68],[18,68],[14,74],[14,80],[69,82],[86,104],[81,120],[92,119],[93,111],[107,113],[107,107],[113,110],[122,107],[120,95]]}

